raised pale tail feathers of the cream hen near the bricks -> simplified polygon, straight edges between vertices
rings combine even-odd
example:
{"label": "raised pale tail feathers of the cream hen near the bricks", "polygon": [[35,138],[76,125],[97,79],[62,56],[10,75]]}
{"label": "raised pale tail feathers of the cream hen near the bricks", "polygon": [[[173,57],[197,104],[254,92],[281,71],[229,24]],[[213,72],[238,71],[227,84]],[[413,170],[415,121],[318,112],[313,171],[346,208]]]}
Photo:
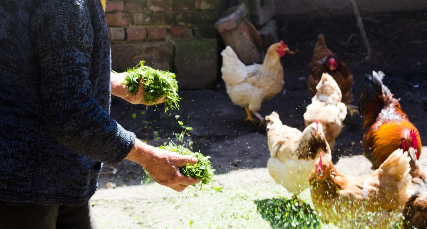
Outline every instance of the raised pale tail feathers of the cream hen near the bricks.
{"label": "raised pale tail feathers of the cream hen near the bricks", "polygon": [[234,50],[227,46],[222,52],[222,79],[231,85],[241,83],[245,77],[246,65],[239,60]]}

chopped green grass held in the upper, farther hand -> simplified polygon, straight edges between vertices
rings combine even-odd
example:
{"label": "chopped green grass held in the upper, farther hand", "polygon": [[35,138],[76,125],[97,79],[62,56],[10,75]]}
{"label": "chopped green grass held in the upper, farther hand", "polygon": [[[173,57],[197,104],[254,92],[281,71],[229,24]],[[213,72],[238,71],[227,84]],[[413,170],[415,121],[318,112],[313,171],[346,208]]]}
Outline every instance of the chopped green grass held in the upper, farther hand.
{"label": "chopped green grass held in the upper, farther hand", "polygon": [[127,73],[124,84],[129,87],[129,92],[138,93],[139,83],[143,79],[143,92],[139,93],[144,94],[145,101],[154,103],[165,97],[165,112],[169,108],[179,109],[178,102],[181,98],[178,96],[178,82],[174,73],[144,66],[144,61],[141,61],[139,66],[128,69]]}

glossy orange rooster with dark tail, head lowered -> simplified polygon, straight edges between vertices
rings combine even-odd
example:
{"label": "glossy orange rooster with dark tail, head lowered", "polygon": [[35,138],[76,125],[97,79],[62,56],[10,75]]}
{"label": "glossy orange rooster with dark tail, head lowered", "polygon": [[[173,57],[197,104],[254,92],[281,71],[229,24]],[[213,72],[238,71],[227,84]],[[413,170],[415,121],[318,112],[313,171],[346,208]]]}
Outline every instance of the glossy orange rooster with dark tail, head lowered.
{"label": "glossy orange rooster with dark tail, head lowered", "polygon": [[402,111],[398,99],[383,84],[383,72],[365,75],[365,86],[360,94],[359,110],[363,113],[363,151],[378,168],[396,149],[407,151],[413,147],[416,157],[421,155],[421,137],[417,128]]}

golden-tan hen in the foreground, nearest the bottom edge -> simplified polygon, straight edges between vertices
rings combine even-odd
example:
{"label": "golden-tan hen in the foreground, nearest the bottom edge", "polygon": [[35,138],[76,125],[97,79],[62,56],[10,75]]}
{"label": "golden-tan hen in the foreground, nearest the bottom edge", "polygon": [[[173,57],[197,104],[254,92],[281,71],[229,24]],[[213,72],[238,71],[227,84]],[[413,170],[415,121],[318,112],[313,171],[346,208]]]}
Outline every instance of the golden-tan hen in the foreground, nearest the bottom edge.
{"label": "golden-tan hen in the foreground, nearest the bottom edge", "polygon": [[409,197],[409,160],[398,149],[371,175],[360,178],[339,173],[329,158],[320,157],[309,179],[316,211],[343,229],[389,229]]}

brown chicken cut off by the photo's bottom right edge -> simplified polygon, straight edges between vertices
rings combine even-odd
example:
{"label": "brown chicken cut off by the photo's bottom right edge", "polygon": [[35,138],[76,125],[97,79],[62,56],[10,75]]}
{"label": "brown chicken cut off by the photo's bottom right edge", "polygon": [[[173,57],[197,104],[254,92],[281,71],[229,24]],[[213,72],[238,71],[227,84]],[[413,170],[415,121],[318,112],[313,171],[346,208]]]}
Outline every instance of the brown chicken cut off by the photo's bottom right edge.
{"label": "brown chicken cut off by the photo's bottom right edge", "polygon": [[403,211],[404,229],[427,228],[427,180],[426,175],[421,171],[418,160],[415,156],[415,149],[409,148],[411,161],[412,185],[409,186],[411,197],[405,205]]}

